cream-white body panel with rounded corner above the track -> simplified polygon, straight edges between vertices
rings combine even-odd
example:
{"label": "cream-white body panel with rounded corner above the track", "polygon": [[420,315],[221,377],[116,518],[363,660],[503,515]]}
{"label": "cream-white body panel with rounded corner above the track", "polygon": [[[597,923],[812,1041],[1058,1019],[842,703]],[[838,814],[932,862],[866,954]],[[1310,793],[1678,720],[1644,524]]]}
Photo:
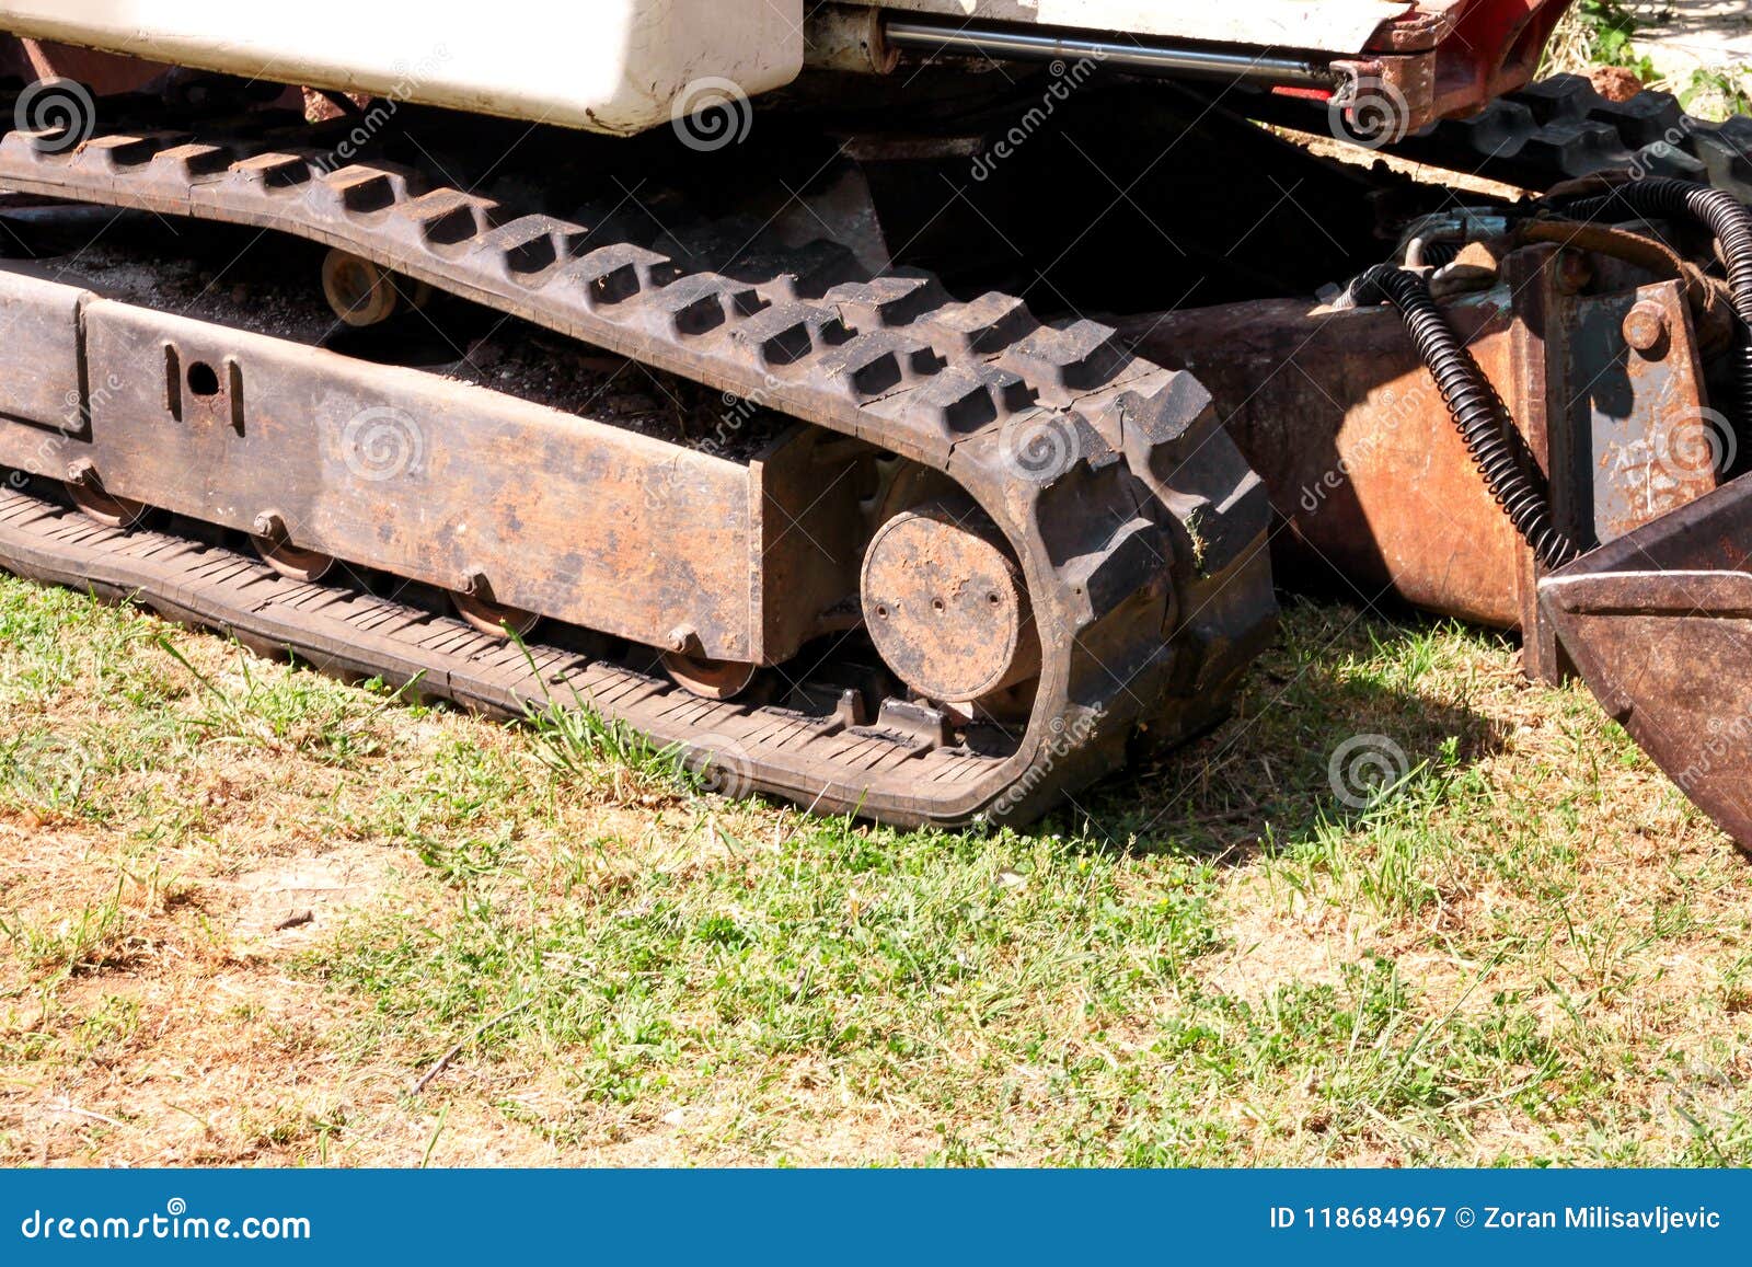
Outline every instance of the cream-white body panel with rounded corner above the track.
{"label": "cream-white body panel with rounded corner above the track", "polygon": [[615,133],[802,67],[802,0],[0,0],[0,30]]}

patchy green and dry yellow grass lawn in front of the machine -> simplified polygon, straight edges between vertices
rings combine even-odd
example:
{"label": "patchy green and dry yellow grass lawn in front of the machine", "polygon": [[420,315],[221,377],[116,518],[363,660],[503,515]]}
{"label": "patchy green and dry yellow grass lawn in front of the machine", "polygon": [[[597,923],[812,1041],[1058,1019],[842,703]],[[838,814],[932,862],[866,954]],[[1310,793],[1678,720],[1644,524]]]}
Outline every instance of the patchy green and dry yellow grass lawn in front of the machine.
{"label": "patchy green and dry yellow grass lawn in front of the machine", "polygon": [[[75,1160],[1752,1162],[1747,866],[1494,634],[1295,605],[1235,720],[1025,832],[11,580],[0,683],[0,1095],[98,1097]],[[1403,761],[1347,801],[1365,734]],[[331,855],[387,871],[245,952],[237,878]],[[214,1043],[272,1090],[102,1101]]]}

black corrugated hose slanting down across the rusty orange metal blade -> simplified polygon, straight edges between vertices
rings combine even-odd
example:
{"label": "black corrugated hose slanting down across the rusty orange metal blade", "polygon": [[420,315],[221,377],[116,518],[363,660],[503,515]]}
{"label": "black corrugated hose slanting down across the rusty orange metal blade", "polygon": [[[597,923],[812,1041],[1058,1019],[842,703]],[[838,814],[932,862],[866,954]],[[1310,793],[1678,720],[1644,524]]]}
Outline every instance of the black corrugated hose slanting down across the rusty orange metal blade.
{"label": "black corrugated hose slanting down across the rusty orange metal blade", "polygon": [[1430,298],[1424,279],[1396,265],[1375,265],[1351,282],[1351,298],[1360,305],[1384,301],[1398,308],[1486,487],[1533,549],[1533,557],[1547,568],[1573,559],[1579,554],[1575,541],[1552,526],[1545,494],[1519,463],[1508,408]]}

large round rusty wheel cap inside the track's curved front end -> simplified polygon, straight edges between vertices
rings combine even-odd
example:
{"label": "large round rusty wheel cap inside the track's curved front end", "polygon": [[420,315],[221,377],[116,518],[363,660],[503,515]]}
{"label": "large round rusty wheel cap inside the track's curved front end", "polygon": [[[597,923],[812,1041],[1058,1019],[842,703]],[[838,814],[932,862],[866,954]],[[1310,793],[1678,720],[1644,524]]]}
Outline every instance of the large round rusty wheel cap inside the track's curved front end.
{"label": "large round rusty wheel cap inside the track's curved front end", "polygon": [[888,519],[864,554],[860,592],[878,654],[927,699],[1000,703],[1041,671],[1021,568],[971,501]]}

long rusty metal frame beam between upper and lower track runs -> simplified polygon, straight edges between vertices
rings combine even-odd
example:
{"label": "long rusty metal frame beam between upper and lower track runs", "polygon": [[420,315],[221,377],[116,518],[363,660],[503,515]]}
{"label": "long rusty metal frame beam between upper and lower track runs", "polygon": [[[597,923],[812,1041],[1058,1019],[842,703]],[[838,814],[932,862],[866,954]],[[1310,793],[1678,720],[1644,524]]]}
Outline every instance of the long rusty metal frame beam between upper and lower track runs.
{"label": "long rusty metal frame beam between upper and lower track runs", "polygon": [[710,659],[788,659],[855,601],[867,445],[731,461],[11,272],[0,312],[0,464]]}

